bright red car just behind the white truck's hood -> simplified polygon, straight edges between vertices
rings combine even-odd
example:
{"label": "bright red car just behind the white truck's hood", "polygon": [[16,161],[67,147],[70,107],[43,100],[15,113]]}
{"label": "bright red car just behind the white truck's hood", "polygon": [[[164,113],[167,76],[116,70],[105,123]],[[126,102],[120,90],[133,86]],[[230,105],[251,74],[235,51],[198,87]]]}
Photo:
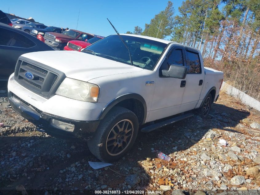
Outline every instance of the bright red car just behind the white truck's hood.
{"label": "bright red car just behind the white truck's hood", "polygon": [[81,41],[69,41],[68,44],[64,47],[64,50],[68,51],[82,51],[89,45],[99,41],[100,39],[103,39],[104,37],[98,36],[93,37],[91,39],[84,38]]}

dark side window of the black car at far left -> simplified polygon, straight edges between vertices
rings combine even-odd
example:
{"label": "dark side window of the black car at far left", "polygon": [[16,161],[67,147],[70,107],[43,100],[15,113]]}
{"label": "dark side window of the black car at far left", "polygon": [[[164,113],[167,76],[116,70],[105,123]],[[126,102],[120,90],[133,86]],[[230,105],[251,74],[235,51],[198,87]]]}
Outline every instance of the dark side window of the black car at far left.
{"label": "dark side window of the black car at far left", "polygon": [[30,48],[34,47],[35,43],[17,32],[0,28],[0,45]]}

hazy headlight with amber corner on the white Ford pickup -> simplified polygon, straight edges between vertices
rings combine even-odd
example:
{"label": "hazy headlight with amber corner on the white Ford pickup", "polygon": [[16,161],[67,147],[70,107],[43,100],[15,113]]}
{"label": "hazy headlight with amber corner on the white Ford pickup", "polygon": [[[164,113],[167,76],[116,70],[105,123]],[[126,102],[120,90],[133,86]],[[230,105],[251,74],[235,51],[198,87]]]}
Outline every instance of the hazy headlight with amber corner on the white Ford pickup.
{"label": "hazy headlight with amber corner on the white Ford pickup", "polygon": [[85,102],[97,102],[98,93],[97,85],[70,78],[65,78],[56,91],[57,95]]}

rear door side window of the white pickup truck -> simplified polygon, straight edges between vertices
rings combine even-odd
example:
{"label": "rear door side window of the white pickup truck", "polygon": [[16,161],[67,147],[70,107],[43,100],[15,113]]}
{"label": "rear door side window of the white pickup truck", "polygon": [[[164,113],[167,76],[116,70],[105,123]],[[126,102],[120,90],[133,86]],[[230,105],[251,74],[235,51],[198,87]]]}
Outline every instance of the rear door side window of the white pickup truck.
{"label": "rear door side window of the white pickup truck", "polygon": [[187,67],[189,73],[201,73],[198,53],[187,51]]}

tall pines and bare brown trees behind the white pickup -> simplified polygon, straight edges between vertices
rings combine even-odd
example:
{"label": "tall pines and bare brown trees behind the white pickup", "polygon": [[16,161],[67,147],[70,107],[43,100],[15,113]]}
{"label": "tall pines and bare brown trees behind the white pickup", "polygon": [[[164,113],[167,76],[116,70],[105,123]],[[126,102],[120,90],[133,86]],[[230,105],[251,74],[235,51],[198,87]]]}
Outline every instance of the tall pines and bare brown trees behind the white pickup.
{"label": "tall pines and bare brown trees behind the white pickup", "polygon": [[185,0],[174,16],[172,2],[127,33],[170,39],[195,47],[206,66],[260,99],[260,0]]}

